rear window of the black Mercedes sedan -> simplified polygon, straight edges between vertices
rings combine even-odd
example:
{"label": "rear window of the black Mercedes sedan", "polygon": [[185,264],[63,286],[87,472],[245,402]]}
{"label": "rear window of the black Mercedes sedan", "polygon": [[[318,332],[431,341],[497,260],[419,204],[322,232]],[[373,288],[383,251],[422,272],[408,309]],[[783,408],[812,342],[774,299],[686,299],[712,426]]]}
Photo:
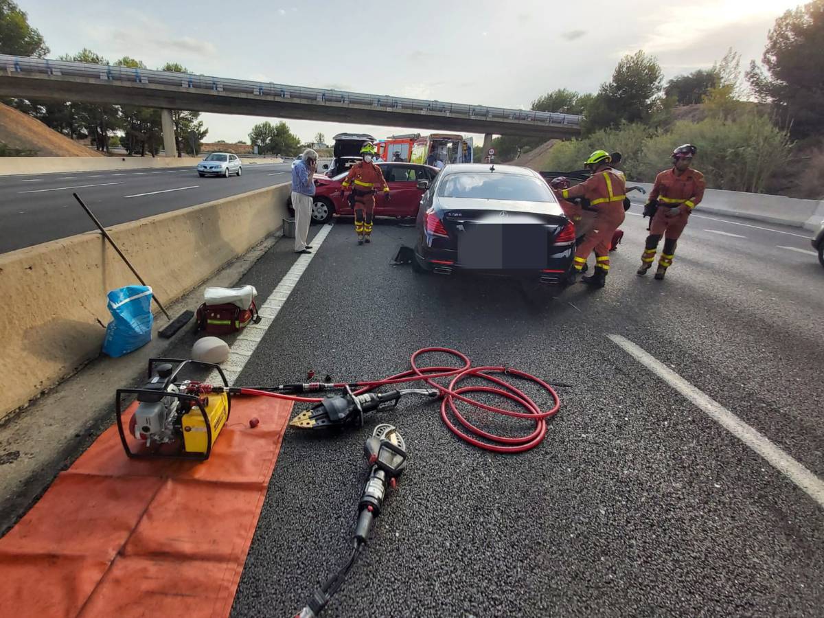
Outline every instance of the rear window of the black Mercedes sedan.
{"label": "rear window of the black Mercedes sedan", "polygon": [[544,180],[494,171],[450,174],[441,181],[438,197],[513,199],[521,202],[555,201]]}

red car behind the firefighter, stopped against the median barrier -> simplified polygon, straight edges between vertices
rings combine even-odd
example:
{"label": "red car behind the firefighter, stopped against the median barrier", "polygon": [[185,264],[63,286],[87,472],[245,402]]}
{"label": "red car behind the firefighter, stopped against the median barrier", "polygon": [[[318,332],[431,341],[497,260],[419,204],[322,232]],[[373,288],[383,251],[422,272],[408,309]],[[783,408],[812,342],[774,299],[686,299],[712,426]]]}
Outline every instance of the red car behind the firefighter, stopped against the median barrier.
{"label": "red car behind the firefighter, stopped against the median barrier", "polygon": [[[423,189],[418,188],[419,180],[427,180],[432,184],[435,176],[438,175],[438,168],[432,166],[418,165],[415,163],[378,163],[383,177],[389,183],[389,190],[392,198],[389,204],[383,199],[381,194],[375,197],[376,217],[417,217],[420,206],[420,196],[424,194]],[[353,216],[352,207],[349,206],[349,199],[344,199],[341,193],[340,184],[346,178],[346,174],[339,174],[334,178],[327,178],[321,174],[315,175],[315,199],[311,208],[312,222],[328,222],[333,215]],[[289,210],[292,211],[292,200],[288,202]]]}

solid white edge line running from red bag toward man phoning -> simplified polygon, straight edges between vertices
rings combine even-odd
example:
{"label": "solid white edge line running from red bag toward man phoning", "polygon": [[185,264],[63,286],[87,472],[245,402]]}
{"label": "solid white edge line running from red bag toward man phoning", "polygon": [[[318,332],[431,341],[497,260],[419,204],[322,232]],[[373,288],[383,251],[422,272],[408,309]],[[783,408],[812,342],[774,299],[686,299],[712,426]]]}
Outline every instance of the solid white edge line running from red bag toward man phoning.
{"label": "solid white edge line running from red bag toward man phoning", "polygon": [[[331,230],[332,226],[327,224],[321,228],[320,232],[317,232],[315,237],[311,239],[312,252],[298,256],[292,268],[283,275],[283,279],[278,283],[278,287],[274,288],[274,292],[269,294],[269,298],[260,305],[260,311],[258,311],[261,318],[260,323],[246,326],[241,332],[241,335],[235,339],[232,347],[229,349],[229,358],[227,358],[222,367],[229,386],[235,383],[235,380],[241,371],[243,371],[243,368],[246,367],[246,363],[252,354],[255,353],[255,349],[257,349],[258,344],[260,344],[260,340],[264,338],[266,331],[269,330],[269,326],[274,322],[274,318],[278,316],[289,294],[297,287],[297,283],[301,280],[306,269],[309,268],[311,260],[317,255],[323,241],[325,241],[326,236],[329,236]],[[210,384],[220,384],[218,372],[212,372],[207,382]]]}

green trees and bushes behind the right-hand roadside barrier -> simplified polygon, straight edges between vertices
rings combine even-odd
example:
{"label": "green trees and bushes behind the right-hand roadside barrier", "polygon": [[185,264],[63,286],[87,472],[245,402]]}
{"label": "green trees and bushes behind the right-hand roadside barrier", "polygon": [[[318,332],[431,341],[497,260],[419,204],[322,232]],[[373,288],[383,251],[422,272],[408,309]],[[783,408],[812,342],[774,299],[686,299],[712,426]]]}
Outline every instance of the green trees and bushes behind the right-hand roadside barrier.
{"label": "green trees and bushes behind the right-hand roadside barrier", "polygon": [[[729,49],[713,67],[664,83],[653,56],[626,55],[594,94],[559,89],[532,101],[532,110],[584,116],[582,138],[555,145],[543,166],[578,169],[590,148],[611,147],[625,155],[631,177],[649,180],[667,161],[667,147],[690,142],[700,147],[702,171],[716,188],[788,190],[784,177],[799,161],[824,158],[822,44],[824,0],[813,0],[775,21],[761,63],[752,60],[746,71]],[[503,160],[540,143],[494,140]],[[799,197],[822,198],[824,180],[806,185]]]}

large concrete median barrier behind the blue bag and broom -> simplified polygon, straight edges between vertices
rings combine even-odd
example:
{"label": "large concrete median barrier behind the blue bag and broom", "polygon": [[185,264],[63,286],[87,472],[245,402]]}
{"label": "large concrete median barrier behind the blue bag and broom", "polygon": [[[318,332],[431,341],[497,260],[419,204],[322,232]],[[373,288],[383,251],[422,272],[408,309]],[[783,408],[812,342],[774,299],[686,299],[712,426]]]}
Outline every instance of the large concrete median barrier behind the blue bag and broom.
{"label": "large concrete median barrier behind the blue bag and broom", "polygon": [[[171,303],[278,231],[288,194],[288,184],[276,185],[108,230]],[[138,281],[99,232],[0,255],[0,419],[100,353],[111,319],[105,295],[130,283]]]}

